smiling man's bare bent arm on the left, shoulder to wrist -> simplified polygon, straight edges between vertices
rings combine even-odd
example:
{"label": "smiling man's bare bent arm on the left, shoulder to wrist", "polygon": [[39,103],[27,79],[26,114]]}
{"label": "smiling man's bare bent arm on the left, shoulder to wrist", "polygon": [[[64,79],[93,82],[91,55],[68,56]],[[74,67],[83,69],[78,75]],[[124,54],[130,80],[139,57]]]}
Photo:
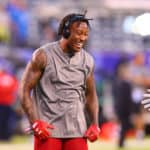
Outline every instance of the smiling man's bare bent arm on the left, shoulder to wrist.
{"label": "smiling man's bare bent arm on the left, shoulder to wrist", "polygon": [[38,119],[36,110],[33,107],[31,91],[40,80],[45,66],[45,52],[42,49],[38,49],[34,52],[31,61],[27,64],[20,83],[19,95],[21,105],[31,124]]}

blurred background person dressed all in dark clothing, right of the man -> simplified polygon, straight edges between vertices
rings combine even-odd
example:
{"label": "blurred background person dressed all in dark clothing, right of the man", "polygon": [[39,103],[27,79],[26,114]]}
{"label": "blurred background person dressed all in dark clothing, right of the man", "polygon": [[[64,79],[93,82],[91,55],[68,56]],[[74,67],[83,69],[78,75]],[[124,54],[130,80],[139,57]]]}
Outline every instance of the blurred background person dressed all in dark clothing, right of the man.
{"label": "blurred background person dressed all in dark clothing, right of the man", "polygon": [[131,128],[132,85],[128,76],[128,60],[121,59],[116,65],[115,80],[112,85],[114,110],[120,123],[118,146],[124,147],[127,130]]}

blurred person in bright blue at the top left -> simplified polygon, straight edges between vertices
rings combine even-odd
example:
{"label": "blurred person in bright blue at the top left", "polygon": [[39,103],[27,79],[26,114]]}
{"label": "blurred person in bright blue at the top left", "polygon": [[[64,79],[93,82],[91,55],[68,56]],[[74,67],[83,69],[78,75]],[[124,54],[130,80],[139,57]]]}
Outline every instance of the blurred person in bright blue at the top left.
{"label": "blurred person in bright blue at the top left", "polygon": [[[32,13],[29,13],[27,1],[10,0],[7,4],[7,12],[11,18],[12,44],[21,47],[28,46],[29,31],[32,27]],[[33,31],[32,34],[34,34]]]}

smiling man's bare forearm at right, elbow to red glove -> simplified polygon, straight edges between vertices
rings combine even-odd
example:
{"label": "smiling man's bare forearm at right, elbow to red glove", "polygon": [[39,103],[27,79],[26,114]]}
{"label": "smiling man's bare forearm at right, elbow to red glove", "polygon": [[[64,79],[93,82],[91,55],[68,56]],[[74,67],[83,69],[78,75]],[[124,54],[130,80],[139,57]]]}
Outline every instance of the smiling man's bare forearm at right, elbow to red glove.
{"label": "smiling man's bare forearm at right, elbow to red glove", "polygon": [[98,121],[99,120],[98,98],[96,95],[94,96],[87,95],[86,100],[87,100],[86,109],[88,111],[88,114],[90,115],[91,123],[98,125],[99,123]]}

